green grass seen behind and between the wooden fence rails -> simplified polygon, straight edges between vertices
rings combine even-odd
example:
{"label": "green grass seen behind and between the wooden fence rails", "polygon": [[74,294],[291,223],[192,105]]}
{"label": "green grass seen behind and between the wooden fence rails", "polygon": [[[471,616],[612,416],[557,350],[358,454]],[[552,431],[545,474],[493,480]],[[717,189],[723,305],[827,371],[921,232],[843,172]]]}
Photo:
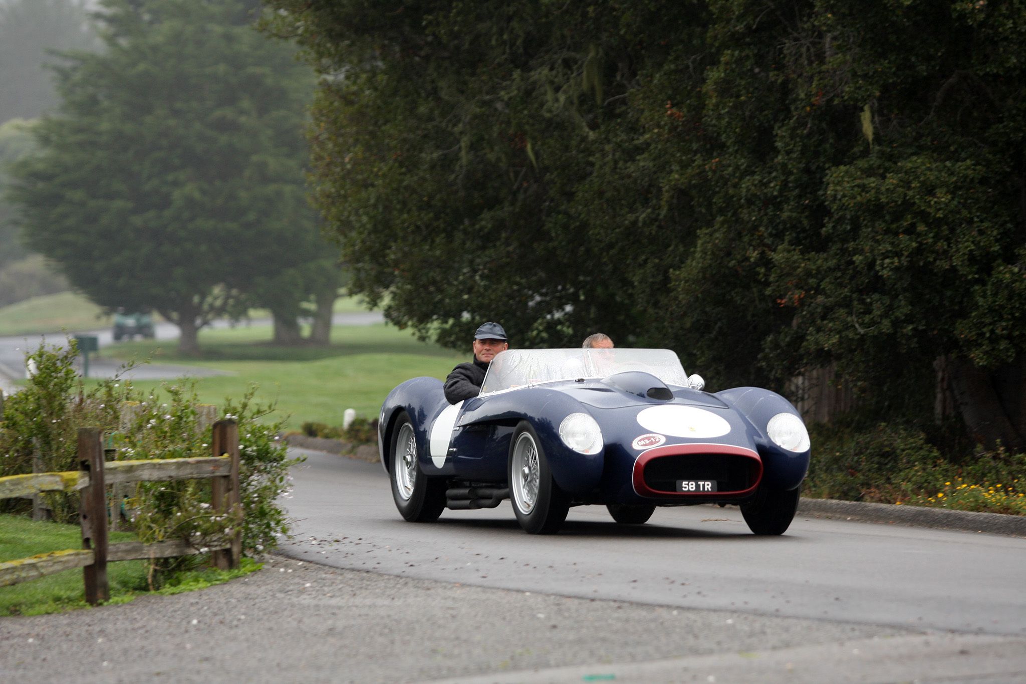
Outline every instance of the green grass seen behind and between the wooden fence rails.
{"label": "green grass seen behind and between the wooden fence rails", "polygon": [[[128,532],[112,532],[111,541],[130,541]],[[0,515],[0,563],[50,551],[82,548],[78,525],[33,522],[21,516]],[[111,598],[123,600],[147,590],[146,564],[119,561],[107,566]],[[82,569],[65,570],[31,581],[0,587],[0,615],[38,615],[84,607]]]}

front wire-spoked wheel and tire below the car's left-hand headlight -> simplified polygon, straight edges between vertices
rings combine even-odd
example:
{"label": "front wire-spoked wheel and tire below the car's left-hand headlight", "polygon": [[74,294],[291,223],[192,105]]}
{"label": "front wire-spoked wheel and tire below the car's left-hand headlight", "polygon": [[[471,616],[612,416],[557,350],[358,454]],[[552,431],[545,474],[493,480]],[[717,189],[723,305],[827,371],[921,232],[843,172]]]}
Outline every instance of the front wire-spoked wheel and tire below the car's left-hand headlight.
{"label": "front wire-spoked wheel and tire below the car's left-hand headlight", "polygon": [[520,421],[510,441],[507,474],[510,502],[523,531],[528,534],[558,532],[569,513],[570,499],[552,479],[542,442],[526,420]]}

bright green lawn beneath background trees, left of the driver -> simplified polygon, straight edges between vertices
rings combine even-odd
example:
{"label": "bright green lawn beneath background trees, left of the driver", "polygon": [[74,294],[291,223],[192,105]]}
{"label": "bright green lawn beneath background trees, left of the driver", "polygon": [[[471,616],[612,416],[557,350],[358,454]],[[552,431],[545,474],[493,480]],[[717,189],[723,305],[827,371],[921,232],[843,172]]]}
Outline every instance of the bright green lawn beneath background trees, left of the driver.
{"label": "bright green lawn beneath background trees, left of the driver", "polygon": [[[173,343],[133,341],[109,347],[105,356],[144,359],[155,363],[184,363],[234,373],[203,377],[197,391],[204,403],[222,404],[240,397],[250,383],[260,385],[258,398],[276,401],[290,414],[289,428],[314,420],[342,425],[347,408],[376,417],[382,402],[396,385],[410,377],[444,378],[452,366],[469,358],[437,345],[418,341],[408,331],[391,325],[336,326],[331,347],[276,347],[268,343],[269,326],[240,326],[200,333],[200,357],[177,354]],[[141,389],[157,388],[155,380],[137,380]]]}

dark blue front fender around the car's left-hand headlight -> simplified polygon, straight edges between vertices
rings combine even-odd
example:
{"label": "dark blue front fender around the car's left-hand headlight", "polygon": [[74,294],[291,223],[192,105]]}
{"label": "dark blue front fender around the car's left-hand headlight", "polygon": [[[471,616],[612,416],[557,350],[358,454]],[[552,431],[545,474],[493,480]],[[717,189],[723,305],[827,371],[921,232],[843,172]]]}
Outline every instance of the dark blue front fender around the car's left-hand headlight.
{"label": "dark blue front fender around the car's left-hand headlight", "polygon": [[559,425],[570,413],[588,413],[594,417],[577,399],[562,392],[534,387],[468,399],[457,425],[516,425],[527,420],[538,433],[559,488],[568,494],[585,494],[598,486],[602,478],[604,448],[598,453],[586,454],[563,444]]}

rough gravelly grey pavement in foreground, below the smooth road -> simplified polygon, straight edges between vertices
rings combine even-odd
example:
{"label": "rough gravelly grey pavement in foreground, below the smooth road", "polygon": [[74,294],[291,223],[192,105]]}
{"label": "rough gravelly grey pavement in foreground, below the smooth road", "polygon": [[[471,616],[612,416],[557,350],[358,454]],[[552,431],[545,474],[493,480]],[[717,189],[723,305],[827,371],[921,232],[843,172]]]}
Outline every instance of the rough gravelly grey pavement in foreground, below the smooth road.
{"label": "rough gravelly grey pavement in foreground, below the smooth road", "polygon": [[0,674],[17,684],[994,684],[1024,672],[1022,640],[526,594],[280,557],[199,592],[0,618]]}

